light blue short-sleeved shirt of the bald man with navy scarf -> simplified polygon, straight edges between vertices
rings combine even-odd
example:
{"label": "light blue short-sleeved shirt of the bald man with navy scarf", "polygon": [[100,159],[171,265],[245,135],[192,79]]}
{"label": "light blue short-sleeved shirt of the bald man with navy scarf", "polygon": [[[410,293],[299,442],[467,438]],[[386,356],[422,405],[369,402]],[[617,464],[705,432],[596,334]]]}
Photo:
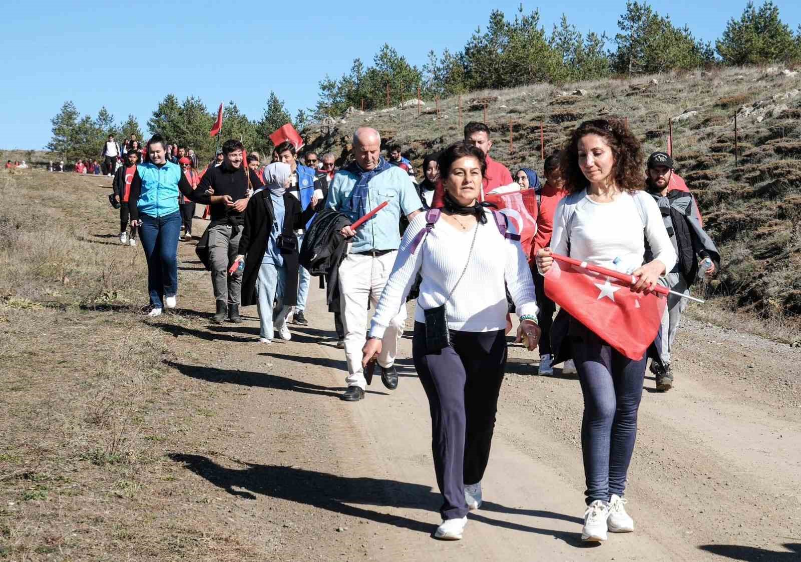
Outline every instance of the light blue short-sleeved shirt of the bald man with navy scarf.
{"label": "light blue short-sleeved shirt of the bald man with navy scarf", "polygon": [[[360,218],[358,209],[350,208],[350,195],[358,178],[340,170],[328,187],[325,206],[348,215],[352,222]],[[367,211],[384,201],[388,205],[364,223],[352,238],[352,253],[368,250],[397,250],[400,246],[400,216],[409,215],[421,208],[420,197],[414,183],[404,170],[393,166],[376,175],[368,183]]]}

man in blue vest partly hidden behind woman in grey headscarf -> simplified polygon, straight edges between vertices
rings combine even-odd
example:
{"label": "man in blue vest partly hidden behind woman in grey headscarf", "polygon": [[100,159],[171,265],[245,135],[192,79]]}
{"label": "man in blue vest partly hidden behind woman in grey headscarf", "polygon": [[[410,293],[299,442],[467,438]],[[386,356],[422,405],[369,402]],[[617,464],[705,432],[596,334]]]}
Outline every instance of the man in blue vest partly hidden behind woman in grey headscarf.
{"label": "man in blue vest partly hidden behind woman in grey headscarf", "polygon": [[[292,170],[289,176],[288,191],[300,201],[300,206],[303,211],[306,211],[309,206],[316,207],[317,203],[324,201],[325,195],[328,193],[328,181],[325,179],[325,175],[318,175],[316,170],[298,163],[295,145],[292,143],[280,143],[280,145],[276,147],[276,152],[278,152],[280,161],[288,164]],[[298,247],[303,244],[305,227],[306,225],[297,232]],[[292,316],[292,323],[299,326],[306,326],[308,324],[304,311],[306,310],[308,285],[311,279],[312,276],[309,275],[306,268],[300,267],[300,280],[297,283],[297,304],[295,307],[295,314]]]}

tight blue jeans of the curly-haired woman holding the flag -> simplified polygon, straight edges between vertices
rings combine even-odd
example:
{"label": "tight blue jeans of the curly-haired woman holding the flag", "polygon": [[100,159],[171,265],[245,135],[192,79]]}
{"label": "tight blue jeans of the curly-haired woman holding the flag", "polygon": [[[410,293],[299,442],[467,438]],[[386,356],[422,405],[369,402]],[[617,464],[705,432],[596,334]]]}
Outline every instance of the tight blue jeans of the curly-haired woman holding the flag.
{"label": "tight blue jeans of the curly-haired woman holding the flag", "polygon": [[[623,496],[647,358],[627,358],[586,327],[571,320],[573,356],[584,395],[582,456],[586,504]],[[581,335],[575,335],[581,333]]]}

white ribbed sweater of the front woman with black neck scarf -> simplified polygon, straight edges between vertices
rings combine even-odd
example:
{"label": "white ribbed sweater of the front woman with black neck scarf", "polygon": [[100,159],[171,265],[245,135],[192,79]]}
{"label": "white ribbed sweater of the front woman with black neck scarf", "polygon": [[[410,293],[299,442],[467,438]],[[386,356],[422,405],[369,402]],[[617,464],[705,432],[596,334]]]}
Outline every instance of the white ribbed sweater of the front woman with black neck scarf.
{"label": "white ribbed sweater of the front woman with black neck scarf", "polygon": [[[417,322],[425,323],[424,310],[440,307],[456,285],[468,263],[473,234],[476,242],[467,271],[445,307],[448,327],[457,331],[495,331],[506,329],[506,291],[517,307],[518,315],[537,315],[534,284],[528,262],[517,241],[498,231],[492,211],[485,211],[487,222],[461,231],[442,217],[412,254],[414,237],[425,228],[425,213],[415,217],[400,243],[395,265],[372,316],[370,335],[383,337],[384,330],[405,303],[417,272],[422,283],[414,313]],[[513,227],[509,225],[509,231]]]}

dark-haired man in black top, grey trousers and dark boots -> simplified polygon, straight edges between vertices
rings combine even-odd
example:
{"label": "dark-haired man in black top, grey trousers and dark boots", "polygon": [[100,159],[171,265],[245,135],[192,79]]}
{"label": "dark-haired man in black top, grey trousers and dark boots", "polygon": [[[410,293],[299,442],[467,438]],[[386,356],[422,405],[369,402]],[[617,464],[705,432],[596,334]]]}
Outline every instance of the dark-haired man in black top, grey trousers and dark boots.
{"label": "dark-haired man in black top, grey trousers and dark boots", "polygon": [[211,222],[208,225],[208,253],[211,262],[211,286],[214,289],[216,313],[214,322],[228,319],[241,323],[239,303],[242,294],[242,275],[228,275],[228,268],[239,253],[239,238],[244,223],[243,212],[248,198],[262,187],[256,172],[242,161],[242,143],[231,138],[223,143],[223,163],[209,167],[200,180],[197,191],[213,190],[223,197],[223,203],[211,205]]}

